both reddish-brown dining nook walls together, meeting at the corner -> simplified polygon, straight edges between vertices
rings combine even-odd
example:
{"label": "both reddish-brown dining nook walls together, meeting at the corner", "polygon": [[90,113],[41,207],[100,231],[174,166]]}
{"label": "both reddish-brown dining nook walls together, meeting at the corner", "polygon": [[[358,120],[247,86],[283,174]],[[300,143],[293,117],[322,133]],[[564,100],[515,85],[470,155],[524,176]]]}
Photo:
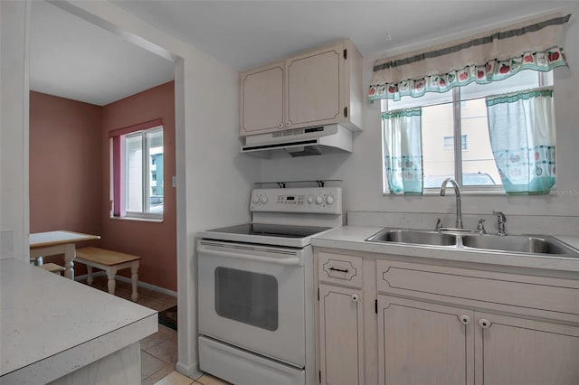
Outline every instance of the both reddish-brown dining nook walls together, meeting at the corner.
{"label": "both reddish-brown dining nook walls together, meeting at the corner", "polygon": [[[158,118],[164,127],[164,221],[111,219],[108,133]],[[142,257],[139,281],[176,291],[175,174],[173,81],[104,107],[31,91],[30,232],[99,234],[100,247]],[[75,272],[86,268],[77,264]],[[125,270],[119,274],[129,277]]]}

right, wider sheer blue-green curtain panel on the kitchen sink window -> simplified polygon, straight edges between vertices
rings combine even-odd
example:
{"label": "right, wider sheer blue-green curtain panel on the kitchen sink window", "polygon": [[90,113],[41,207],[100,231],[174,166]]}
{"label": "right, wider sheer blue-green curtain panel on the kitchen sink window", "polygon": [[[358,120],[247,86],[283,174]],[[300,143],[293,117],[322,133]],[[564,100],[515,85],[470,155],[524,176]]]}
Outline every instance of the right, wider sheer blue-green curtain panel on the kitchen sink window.
{"label": "right, wider sheer blue-green curtain panel on the kitchen sink window", "polygon": [[490,146],[505,192],[548,194],[555,184],[553,89],[488,97],[487,109]]}

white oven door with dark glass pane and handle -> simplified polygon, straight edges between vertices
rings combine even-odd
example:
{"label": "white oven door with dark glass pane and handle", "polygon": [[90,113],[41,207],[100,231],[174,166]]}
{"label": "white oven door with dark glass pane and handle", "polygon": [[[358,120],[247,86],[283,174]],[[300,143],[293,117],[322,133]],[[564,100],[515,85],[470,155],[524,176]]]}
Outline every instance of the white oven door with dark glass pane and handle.
{"label": "white oven door with dark glass pane and handle", "polygon": [[303,368],[308,252],[199,240],[199,333]]}

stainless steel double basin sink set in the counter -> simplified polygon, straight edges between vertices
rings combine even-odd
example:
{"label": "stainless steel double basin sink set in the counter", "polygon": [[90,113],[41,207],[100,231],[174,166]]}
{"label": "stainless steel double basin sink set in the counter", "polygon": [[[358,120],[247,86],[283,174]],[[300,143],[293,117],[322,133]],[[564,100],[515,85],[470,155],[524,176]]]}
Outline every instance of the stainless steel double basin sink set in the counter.
{"label": "stainless steel double basin sink set in the counter", "polygon": [[477,234],[468,230],[445,232],[386,228],[365,240],[379,243],[402,243],[579,258],[579,250],[550,236],[488,235]]}

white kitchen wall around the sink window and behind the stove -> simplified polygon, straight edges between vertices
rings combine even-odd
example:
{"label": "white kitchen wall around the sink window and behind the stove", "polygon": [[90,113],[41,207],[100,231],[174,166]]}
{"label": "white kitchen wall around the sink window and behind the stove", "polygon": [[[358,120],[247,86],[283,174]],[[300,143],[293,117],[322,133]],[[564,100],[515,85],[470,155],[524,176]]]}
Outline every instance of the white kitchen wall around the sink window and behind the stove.
{"label": "white kitchen wall around the sink window and behind the stove", "polygon": [[[576,43],[579,40],[579,6],[575,5],[570,11],[573,16],[565,24],[564,44],[569,68],[555,70],[557,185],[560,193],[567,195],[463,195],[463,212],[486,214],[497,209],[507,215],[579,216],[579,45]],[[365,58],[366,85],[370,82],[375,59]],[[454,212],[455,202],[451,196],[383,196],[380,103],[365,104],[364,117],[364,131],[355,135],[353,154],[264,160],[262,179],[342,179],[346,211]],[[579,235],[579,229],[574,231]]]}

